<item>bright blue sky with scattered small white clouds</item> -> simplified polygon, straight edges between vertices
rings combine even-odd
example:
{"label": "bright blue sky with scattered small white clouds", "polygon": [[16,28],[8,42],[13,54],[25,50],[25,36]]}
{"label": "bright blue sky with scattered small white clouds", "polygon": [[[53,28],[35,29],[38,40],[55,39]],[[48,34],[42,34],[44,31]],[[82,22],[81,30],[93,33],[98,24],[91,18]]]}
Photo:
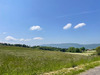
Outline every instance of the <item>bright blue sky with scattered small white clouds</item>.
{"label": "bright blue sky with scattered small white clouds", "polygon": [[0,42],[100,43],[100,0],[0,0]]}

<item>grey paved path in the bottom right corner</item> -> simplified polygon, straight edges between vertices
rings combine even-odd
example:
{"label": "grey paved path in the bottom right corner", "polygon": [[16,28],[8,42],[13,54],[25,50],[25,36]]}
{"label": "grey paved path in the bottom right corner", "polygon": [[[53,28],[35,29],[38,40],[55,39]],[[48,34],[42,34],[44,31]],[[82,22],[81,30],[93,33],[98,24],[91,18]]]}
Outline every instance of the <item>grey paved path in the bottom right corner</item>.
{"label": "grey paved path in the bottom right corner", "polygon": [[100,75],[100,66],[81,73],[80,75]]}

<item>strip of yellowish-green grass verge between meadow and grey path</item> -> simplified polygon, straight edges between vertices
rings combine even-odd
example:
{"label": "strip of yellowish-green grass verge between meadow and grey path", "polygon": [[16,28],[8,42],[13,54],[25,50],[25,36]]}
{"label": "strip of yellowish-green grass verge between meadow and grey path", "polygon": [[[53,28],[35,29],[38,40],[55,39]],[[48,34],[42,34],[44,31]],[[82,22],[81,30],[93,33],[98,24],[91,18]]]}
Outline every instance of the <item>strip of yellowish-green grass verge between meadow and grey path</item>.
{"label": "strip of yellowish-green grass verge between meadow and grey path", "polygon": [[76,67],[63,68],[61,70],[44,73],[43,75],[80,75],[80,73],[100,65],[100,61],[81,64]]}

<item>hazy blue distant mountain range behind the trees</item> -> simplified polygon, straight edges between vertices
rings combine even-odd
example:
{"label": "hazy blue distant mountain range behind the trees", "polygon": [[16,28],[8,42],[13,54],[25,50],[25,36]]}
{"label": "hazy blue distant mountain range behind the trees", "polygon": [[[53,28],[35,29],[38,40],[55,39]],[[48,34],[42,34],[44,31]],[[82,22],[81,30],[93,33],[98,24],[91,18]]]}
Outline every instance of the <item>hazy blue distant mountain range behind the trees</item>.
{"label": "hazy blue distant mountain range behind the trees", "polygon": [[85,47],[86,49],[94,49],[100,44],[77,44],[77,43],[61,43],[61,44],[43,44],[41,46],[59,47],[59,48],[69,48],[69,47]]}

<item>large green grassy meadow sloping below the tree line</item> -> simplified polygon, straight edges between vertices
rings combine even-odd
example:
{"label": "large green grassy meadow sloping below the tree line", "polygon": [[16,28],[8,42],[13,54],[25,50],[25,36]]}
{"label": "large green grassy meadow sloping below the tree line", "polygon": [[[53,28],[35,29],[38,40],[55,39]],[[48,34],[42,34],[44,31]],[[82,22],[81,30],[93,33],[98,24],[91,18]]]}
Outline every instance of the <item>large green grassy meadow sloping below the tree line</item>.
{"label": "large green grassy meadow sloping below the tree line", "polygon": [[98,56],[0,46],[0,75],[40,75],[98,60]]}

